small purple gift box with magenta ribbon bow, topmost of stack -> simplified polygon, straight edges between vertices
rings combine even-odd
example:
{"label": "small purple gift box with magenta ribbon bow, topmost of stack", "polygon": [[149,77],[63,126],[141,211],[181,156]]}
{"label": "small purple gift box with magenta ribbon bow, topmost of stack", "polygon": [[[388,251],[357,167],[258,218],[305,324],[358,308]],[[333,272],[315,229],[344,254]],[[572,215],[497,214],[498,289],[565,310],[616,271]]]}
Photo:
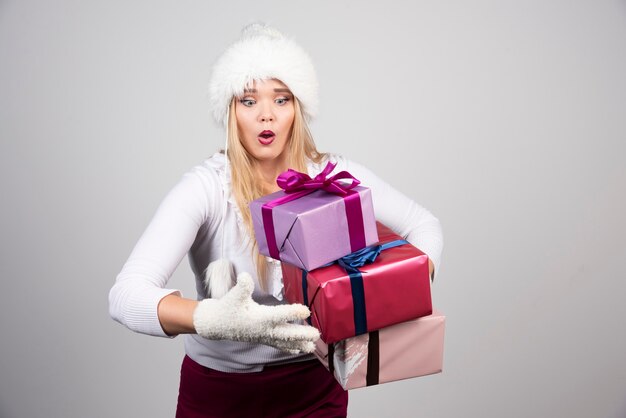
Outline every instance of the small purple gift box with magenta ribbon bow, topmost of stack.
{"label": "small purple gift box with magenta ribbon bow, topmost of stack", "polygon": [[286,191],[250,202],[261,254],[313,270],[378,242],[370,189],[346,172],[326,178],[333,168],[314,179],[289,170],[278,179]]}

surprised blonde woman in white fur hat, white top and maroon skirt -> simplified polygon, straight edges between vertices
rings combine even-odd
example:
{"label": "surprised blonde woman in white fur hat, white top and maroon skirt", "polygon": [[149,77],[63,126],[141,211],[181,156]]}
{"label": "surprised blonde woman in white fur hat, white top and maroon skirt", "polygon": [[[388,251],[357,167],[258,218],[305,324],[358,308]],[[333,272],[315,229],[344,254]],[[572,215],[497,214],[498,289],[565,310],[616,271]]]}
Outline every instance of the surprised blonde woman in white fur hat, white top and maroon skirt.
{"label": "surprised blonde woman in white fur hat, white top and maroon skirt", "polygon": [[[256,250],[247,204],[278,190],[287,168],[314,175],[332,160],[372,189],[377,218],[430,256],[431,274],[439,222],[364,167],[316,150],[313,66],[275,29],[244,29],[213,68],[210,104],[227,155],[194,167],[165,197],[111,289],[111,315],[137,332],[187,334],[177,417],[346,416],[347,392],[308,354],[319,334],[293,323],[307,308],[283,300],[280,263]],[[197,300],[165,288],[187,253]],[[237,285],[208,298],[205,271],[221,258]]]}

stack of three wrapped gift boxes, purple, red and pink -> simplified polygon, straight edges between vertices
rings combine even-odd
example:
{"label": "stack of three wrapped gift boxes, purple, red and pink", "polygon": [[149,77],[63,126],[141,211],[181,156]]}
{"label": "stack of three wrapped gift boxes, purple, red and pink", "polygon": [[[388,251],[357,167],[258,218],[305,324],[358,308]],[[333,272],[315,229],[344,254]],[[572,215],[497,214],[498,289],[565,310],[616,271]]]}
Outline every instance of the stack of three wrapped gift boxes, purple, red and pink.
{"label": "stack of three wrapped gift boxes, purple, red and pink", "polygon": [[333,169],[288,170],[284,191],[250,203],[259,251],[282,261],[285,298],[311,310],[315,355],[344,389],[440,372],[445,317],[432,309],[428,257]]}

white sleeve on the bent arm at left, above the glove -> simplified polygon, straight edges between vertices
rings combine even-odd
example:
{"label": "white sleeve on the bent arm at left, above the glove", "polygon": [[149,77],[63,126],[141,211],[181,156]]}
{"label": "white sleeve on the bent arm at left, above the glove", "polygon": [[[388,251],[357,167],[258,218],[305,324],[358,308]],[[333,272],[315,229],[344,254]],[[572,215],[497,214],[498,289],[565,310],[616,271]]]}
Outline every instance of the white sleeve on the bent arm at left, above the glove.
{"label": "white sleeve on the bent arm at left, above the glove", "polygon": [[219,207],[221,190],[215,191],[197,171],[185,174],[161,202],[109,292],[111,317],[133,331],[167,336],[158,304],[169,294],[180,294],[167,289],[167,282],[210,212]]}

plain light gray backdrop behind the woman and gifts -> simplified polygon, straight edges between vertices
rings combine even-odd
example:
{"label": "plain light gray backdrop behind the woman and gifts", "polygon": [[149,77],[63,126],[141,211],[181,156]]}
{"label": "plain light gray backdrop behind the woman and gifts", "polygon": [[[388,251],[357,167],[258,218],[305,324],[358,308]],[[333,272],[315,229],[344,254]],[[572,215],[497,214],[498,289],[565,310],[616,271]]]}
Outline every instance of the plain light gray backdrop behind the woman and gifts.
{"label": "plain light gray backdrop behind the woman and gifts", "polygon": [[350,416],[625,417],[623,0],[0,2],[0,416],[173,416],[182,339],[107,293],[220,147],[210,65],[255,19],[316,63],[319,147],[444,226],[444,373]]}

